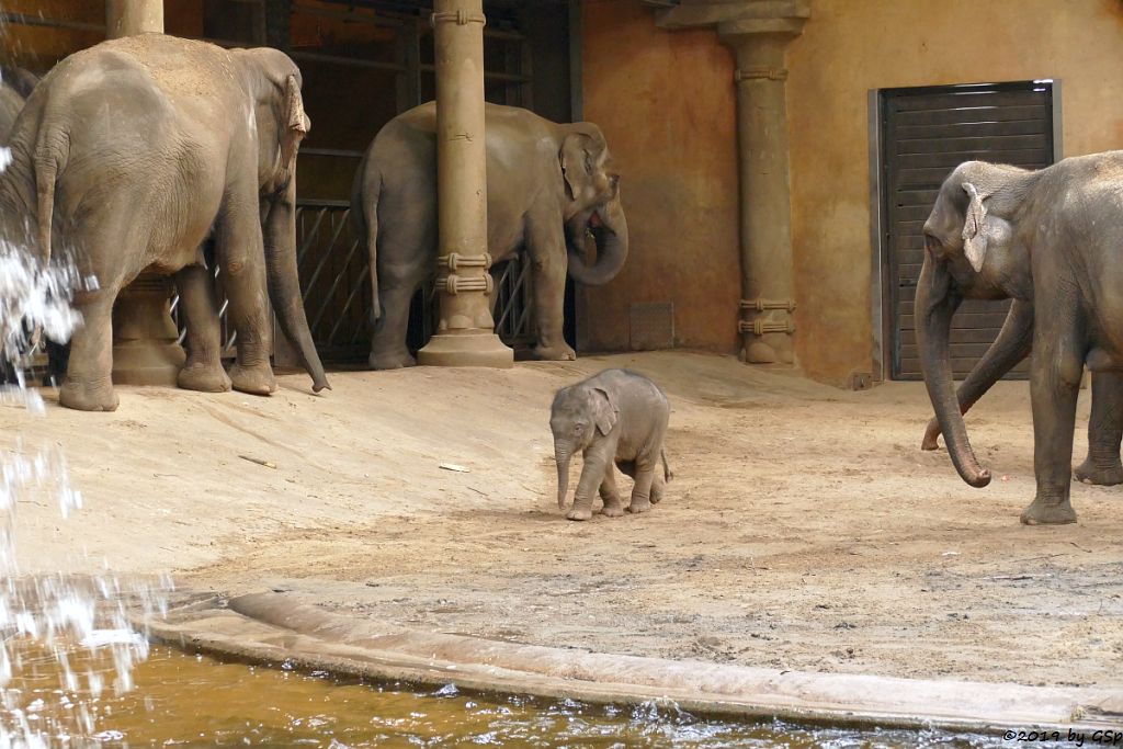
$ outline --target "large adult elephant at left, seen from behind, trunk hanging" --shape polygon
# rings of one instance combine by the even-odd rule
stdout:
[[[9,238],[29,218],[33,230],[19,239],[42,261],[66,248],[97,278],[74,298],[84,325],[71,340],[63,405],[117,408],[110,312],[145,270],[175,273],[188,327],[181,387],[276,389],[266,299],[313,390],[327,386],[296,277],[295,163],[311,126],[300,85],[300,71],[275,49],[145,34],[71,55],[36,86],[12,133],[0,217],[16,217]],[[203,267],[208,238],[238,332],[229,377]]]

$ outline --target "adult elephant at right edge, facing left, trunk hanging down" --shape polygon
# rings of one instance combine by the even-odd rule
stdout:
[[[1120,398],[1121,195],[1123,152],[1067,158],[1037,172],[967,162],[943,182],[924,223],[916,289],[921,366],[948,453],[973,486],[986,486],[990,472],[971,450],[952,389],[952,313],[965,298],[1013,298],[1017,311],[1007,320],[1008,335],[1033,349],[1037,495],[1022,512],[1028,524],[1076,520],[1069,491],[1084,367],[1104,403]]]

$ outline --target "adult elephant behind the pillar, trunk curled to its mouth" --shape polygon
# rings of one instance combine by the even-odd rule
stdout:
[[[499,263],[524,246],[532,267],[541,359],[573,359],[562,336],[566,272],[611,281],[628,257],[620,177],[601,129],[558,125],[514,107],[487,104],[487,253]],[[437,257],[437,108],[422,104],[378,133],[359,166],[351,217],[371,257],[375,369],[413,365],[405,347],[410,300]],[[586,266],[586,231],[596,263]],[[494,300],[493,300],[494,301]]]

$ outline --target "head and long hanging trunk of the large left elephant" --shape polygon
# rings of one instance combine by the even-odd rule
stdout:
[[[270,302],[285,337],[312,376],[312,390],[330,390],[308,327],[296,273],[296,154],[312,127],[300,95],[300,70],[276,49],[262,47],[235,54],[244,65],[253,100],[246,120],[257,143]]]

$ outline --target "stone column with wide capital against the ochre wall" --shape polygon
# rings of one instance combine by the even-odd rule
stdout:
[[[737,63],[738,329],[741,356],[754,364],[795,360],[785,49],[810,16],[810,0],[683,0],[658,15],[663,28],[714,28]]]

